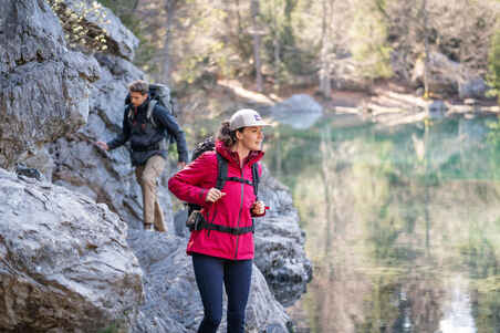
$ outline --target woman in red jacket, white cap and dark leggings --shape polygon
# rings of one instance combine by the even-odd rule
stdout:
[[[269,124],[256,111],[236,112],[222,123],[216,150],[204,153],[168,180],[176,197],[202,207],[201,222],[192,230],[186,250],[192,257],[205,310],[199,333],[217,332],[222,318],[222,282],[228,295],[228,332],[244,332],[253,259],[252,217],[265,215],[252,186],[252,165],[264,155],[262,126]],[[227,160],[228,178],[218,189],[221,157]],[[258,171],[262,173],[260,165]]]

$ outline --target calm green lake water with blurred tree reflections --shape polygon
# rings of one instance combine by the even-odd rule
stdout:
[[[323,117],[277,129],[314,262],[296,332],[500,332],[500,125],[384,128]]]

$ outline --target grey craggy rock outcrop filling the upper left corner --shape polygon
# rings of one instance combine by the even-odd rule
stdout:
[[[45,1],[4,1],[0,12],[0,166],[81,127],[97,62],[65,46]]]

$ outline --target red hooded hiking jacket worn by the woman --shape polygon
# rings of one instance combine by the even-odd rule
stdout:
[[[264,155],[260,150],[250,152],[241,169],[238,153],[231,152],[222,142],[216,143],[216,150],[228,160],[228,177],[250,181],[252,164]],[[217,184],[217,171],[216,152],[206,152],[175,174],[168,180],[168,189],[183,201],[201,205],[205,219],[209,222],[231,228],[250,227],[252,225],[250,208],[256,201],[253,186],[227,180],[222,188],[226,196],[213,204],[205,201],[208,190]],[[261,174],[262,168],[259,165],[259,175]],[[253,233],[231,235],[217,230],[195,230],[191,232],[186,252],[233,260],[253,259]]]

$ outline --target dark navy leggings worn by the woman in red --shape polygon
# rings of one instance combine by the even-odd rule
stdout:
[[[228,333],[243,333],[252,260],[228,260],[194,253],[192,267],[205,310],[198,333],[216,333],[219,327],[222,319],[222,281],[228,295]]]

